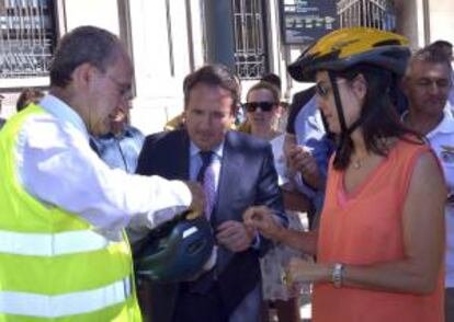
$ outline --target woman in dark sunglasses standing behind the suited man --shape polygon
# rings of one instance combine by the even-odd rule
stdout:
[[[274,165],[276,168],[279,184],[283,186],[288,182],[286,179],[285,157],[283,151],[285,135],[277,129],[282,106],[280,106],[280,90],[266,81],[260,81],[253,85],[243,104],[246,111],[246,126],[240,130],[270,141]],[[285,198],[284,198],[285,203]],[[285,205],[284,205],[285,206]],[[303,226],[296,214],[287,211],[290,227],[303,230]],[[276,244],[266,255],[261,258],[262,289],[265,301],[263,308],[263,321],[269,321],[268,308],[272,303],[276,309],[280,322],[299,322],[299,288],[295,285],[287,286],[281,276],[285,266],[293,256],[299,256],[300,252],[288,246]]]

